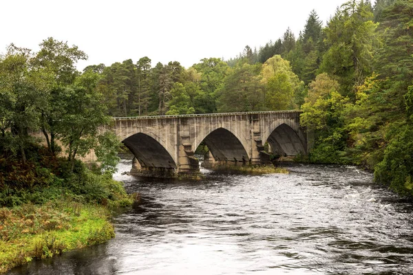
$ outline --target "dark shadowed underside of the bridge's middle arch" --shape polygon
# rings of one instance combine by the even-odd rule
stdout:
[[[218,128],[202,141],[216,162],[248,162],[248,154],[240,140],[224,128]]]

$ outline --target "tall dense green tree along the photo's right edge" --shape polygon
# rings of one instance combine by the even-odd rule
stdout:
[[[383,47],[374,58],[376,73],[357,87],[357,100],[348,108],[352,156],[370,168],[380,164],[378,169],[382,172],[393,170],[388,159],[384,160],[395,148],[387,149],[388,144],[398,144],[400,136],[406,137],[405,127],[410,124],[412,14],[413,4],[406,0],[396,1],[383,10],[383,22],[377,28]],[[384,179],[383,175],[380,177]]]

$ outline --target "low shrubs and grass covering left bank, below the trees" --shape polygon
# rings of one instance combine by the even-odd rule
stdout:
[[[73,170],[54,157],[0,164],[0,274],[112,239],[111,210],[133,201],[112,173],[82,162]]]

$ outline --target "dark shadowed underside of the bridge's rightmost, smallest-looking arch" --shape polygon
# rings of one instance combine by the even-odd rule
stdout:
[[[293,128],[283,123],[277,126],[266,140],[275,155],[299,155],[306,153],[299,135]]]

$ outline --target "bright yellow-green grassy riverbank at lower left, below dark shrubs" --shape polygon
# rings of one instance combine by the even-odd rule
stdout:
[[[112,239],[107,207],[59,199],[0,208],[0,274],[35,259]]]

